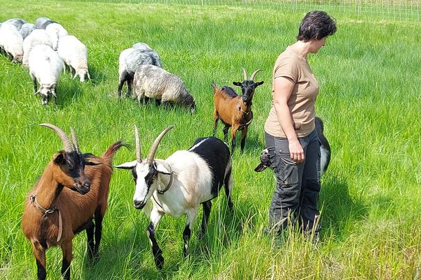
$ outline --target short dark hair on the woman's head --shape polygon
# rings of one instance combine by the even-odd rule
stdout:
[[[334,35],[336,32],[336,20],[329,17],[326,12],[313,10],[307,12],[300,24],[297,40],[309,42],[311,40],[320,40],[323,37]]]

